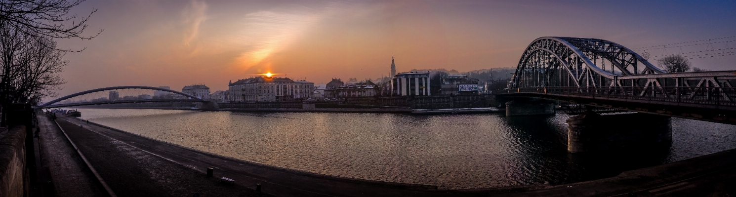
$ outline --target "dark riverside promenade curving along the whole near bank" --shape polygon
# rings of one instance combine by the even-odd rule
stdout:
[[[59,115],[58,125],[87,157],[116,196],[724,196],[736,190],[736,151],[626,171],[619,176],[567,185],[527,185],[437,190],[294,171],[209,154]],[[39,121],[53,123],[46,118]],[[45,127],[46,128],[46,127]],[[61,132],[42,129],[42,132]],[[48,135],[48,134],[47,134]],[[71,150],[74,150],[73,148]],[[68,157],[57,155],[52,157]],[[205,169],[214,168],[214,177]],[[79,176],[89,178],[81,168]],[[51,169],[52,174],[54,170]],[[61,172],[63,174],[63,172]],[[235,185],[218,177],[235,179]],[[52,178],[60,185],[63,178]],[[88,182],[93,182],[93,178]],[[261,192],[255,191],[261,184]],[[69,183],[68,185],[74,185]],[[95,184],[99,185],[99,184]],[[68,188],[57,187],[57,193]],[[99,186],[91,193],[105,194]],[[100,196],[100,195],[93,195]]]

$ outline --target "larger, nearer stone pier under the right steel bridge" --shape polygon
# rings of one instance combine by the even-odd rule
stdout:
[[[571,153],[651,150],[672,145],[671,118],[643,113],[582,114],[567,119]]]

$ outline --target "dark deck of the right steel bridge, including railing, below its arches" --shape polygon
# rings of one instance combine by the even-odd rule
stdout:
[[[736,124],[735,88],[701,92],[690,87],[523,87],[498,93],[500,100],[545,98],[592,107],[645,112],[717,123]]]

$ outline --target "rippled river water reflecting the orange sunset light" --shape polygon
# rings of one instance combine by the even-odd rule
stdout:
[[[568,154],[568,115],[79,109],[82,119],[240,160],[441,189],[563,184],[736,148],[736,126],[673,118],[673,146]]]

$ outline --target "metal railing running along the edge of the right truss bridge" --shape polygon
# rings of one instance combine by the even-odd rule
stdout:
[[[736,107],[735,87],[521,87],[504,91]]]

